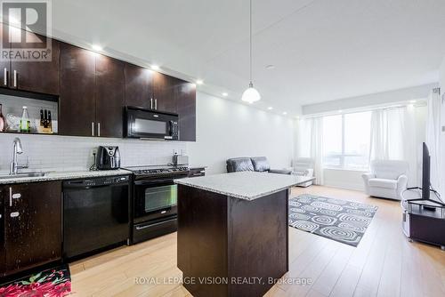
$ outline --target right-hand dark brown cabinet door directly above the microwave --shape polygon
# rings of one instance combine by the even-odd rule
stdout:
[[[177,113],[177,103],[175,92],[182,80],[166,76],[162,73],[155,73],[154,99],[155,107],[159,111]]]

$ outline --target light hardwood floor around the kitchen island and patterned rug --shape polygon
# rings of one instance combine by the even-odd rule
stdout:
[[[379,208],[358,247],[289,228],[290,270],[285,277],[312,283],[277,284],[266,296],[445,296],[445,252],[408,242],[401,232],[398,202],[327,187],[293,192]],[[190,296],[174,279],[182,276],[176,268],[175,233],[74,262],[70,269],[75,296]]]

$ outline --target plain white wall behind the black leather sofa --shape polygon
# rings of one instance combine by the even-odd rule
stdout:
[[[294,121],[198,92],[197,141],[187,143],[192,165],[225,173],[231,157],[268,157],[272,168],[288,167],[294,152]]]

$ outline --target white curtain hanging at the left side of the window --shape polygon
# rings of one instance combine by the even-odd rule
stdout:
[[[323,179],[323,118],[302,118],[298,121],[296,157],[311,157],[314,160],[315,184]]]

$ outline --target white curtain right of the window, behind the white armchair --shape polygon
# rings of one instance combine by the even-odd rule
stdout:
[[[405,160],[409,163],[409,186],[419,183],[419,148],[413,106],[373,110],[369,161]]]

